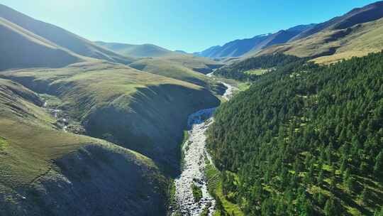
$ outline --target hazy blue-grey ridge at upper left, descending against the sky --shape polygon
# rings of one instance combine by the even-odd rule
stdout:
[[[54,26],[50,23],[35,20],[34,18],[26,16],[23,13],[15,11],[9,8],[8,6],[4,6],[2,4],[0,4],[0,18],[2,18],[3,21],[6,20],[9,23],[13,23],[13,26],[16,25],[17,28],[21,29],[20,31],[24,33],[28,31],[28,35],[30,35],[30,33],[33,33],[35,36],[44,38],[45,41],[50,41],[51,45],[54,44],[55,47],[66,49],[67,51],[76,53],[77,55],[101,60],[109,60],[111,62],[124,64],[128,64],[133,61],[133,58],[128,58],[123,55],[113,53],[111,50],[101,48],[99,45],[96,45],[91,41],[88,41],[87,39],[77,36],[74,33],[66,31],[63,28]],[[35,36],[33,36],[33,38],[35,38]],[[20,37],[21,36],[18,36],[16,38]],[[13,40],[13,37],[8,38],[8,40],[6,41],[9,40]],[[6,41],[1,42],[6,43]],[[11,43],[16,43],[16,41],[11,41]],[[49,55],[50,53],[47,53],[45,56]],[[72,60],[71,62],[74,63],[74,60]],[[57,67],[60,65],[62,64],[57,64]],[[50,66],[50,64],[48,64],[47,66]]]

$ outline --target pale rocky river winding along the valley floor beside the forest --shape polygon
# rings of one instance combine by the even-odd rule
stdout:
[[[222,82],[227,87],[224,99],[230,99],[235,87]],[[185,141],[182,151],[184,153],[184,165],[181,175],[174,180],[176,193],[175,199],[179,207],[179,212],[185,216],[199,216],[201,212],[209,208],[209,215],[213,215],[216,200],[211,197],[207,190],[204,169],[205,160],[211,160],[206,151],[205,132],[213,123],[213,112],[216,108],[201,109],[199,112],[191,114],[188,119],[189,138]],[[196,185],[202,191],[202,198],[198,202],[194,200],[191,190],[192,185]]]

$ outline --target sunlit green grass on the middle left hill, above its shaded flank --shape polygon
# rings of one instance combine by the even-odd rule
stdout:
[[[77,63],[60,69],[14,70],[4,72],[3,75],[31,88],[38,83],[36,90],[48,91],[42,93],[51,93],[60,87],[58,97],[80,119],[89,114],[91,108],[106,104],[113,103],[114,107],[126,109],[133,94],[150,86],[179,85],[201,90],[201,87],[188,82],[102,62]],[[30,82],[30,79],[35,83]]]

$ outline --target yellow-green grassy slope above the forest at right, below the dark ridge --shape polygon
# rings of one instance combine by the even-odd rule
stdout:
[[[317,63],[334,63],[353,56],[363,56],[383,49],[383,18],[343,30],[328,30],[308,38],[263,50],[313,58]]]

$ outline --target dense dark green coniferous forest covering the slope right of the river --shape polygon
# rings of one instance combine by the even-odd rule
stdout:
[[[383,215],[383,52],[279,65],[218,108],[208,147],[245,215]]]

